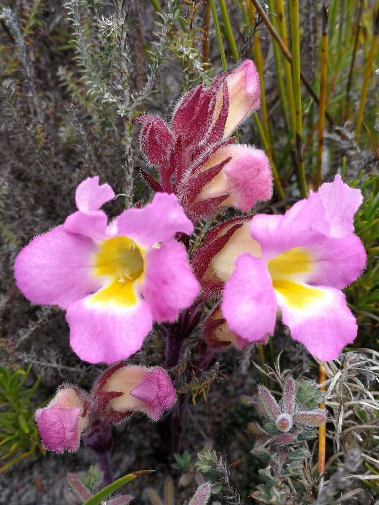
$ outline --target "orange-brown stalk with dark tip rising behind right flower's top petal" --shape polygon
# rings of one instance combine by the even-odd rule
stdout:
[[[326,75],[327,75],[327,11],[325,4],[322,5],[322,36],[321,36],[321,68],[320,68],[320,107],[318,120],[318,151],[316,188],[322,180],[322,147],[324,140],[324,124],[326,109]]]

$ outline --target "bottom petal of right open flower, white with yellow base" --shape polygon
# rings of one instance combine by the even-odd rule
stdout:
[[[291,281],[274,281],[282,320],[291,336],[316,358],[336,359],[357,336],[357,323],[341,291]]]

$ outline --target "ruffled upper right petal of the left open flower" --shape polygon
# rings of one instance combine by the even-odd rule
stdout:
[[[145,207],[124,211],[117,219],[117,226],[120,235],[127,235],[143,246],[167,242],[177,232],[190,235],[194,231],[176,196],[167,193],[157,193]]]

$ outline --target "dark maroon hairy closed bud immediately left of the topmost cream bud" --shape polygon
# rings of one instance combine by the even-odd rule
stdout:
[[[199,86],[180,100],[172,118],[172,130],[181,135],[185,145],[205,137],[213,117],[215,95],[213,89]]]

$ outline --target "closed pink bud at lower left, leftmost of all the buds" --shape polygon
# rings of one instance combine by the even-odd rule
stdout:
[[[77,451],[80,436],[88,426],[89,402],[75,386],[61,386],[49,405],[35,411],[35,422],[43,446],[48,450]]]

